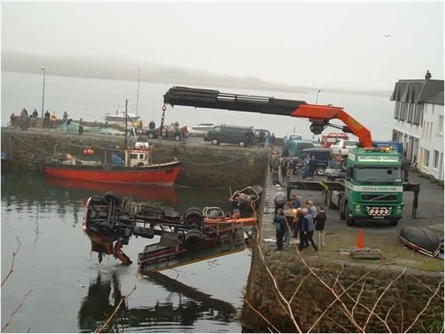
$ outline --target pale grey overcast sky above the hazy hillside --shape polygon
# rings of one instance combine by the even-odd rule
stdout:
[[[1,49],[391,90],[427,68],[444,79],[444,4],[1,1]]]

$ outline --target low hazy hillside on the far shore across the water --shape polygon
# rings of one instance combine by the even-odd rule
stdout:
[[[136,68],[140,68],[140,80],[163,84],[184,86],[208,86],[215,88],[245,88],[252,90],[277,90],[289,93],[314,92],[318,88],[291,86],[262,81],[256,77],[234,77],[218,75],[201,70],[191,70],[149,62],[125,61],[122,59],[101,59],[79,56],[42,56],[1,52],[1,70],[9,72],[47,73],[65,77],[84,77],[94,79],[114,79],[136,81]],[[324,92],[360,95],[379,95],[389,97],[389,90],[348,90],[341,88],[321,88]]]

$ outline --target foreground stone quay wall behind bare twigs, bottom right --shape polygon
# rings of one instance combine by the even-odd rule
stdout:
[[[275,329],[281,332],[296,333],[297,329],[286,313],[283,303],[277,294],[273,280],[266,271],[270,269],[278,289],[289,301],[301,284],[291,301],[291,310],[300,330],[305,333],[309,329],[313,333],[357,333],[357,327],[346,317],[339,301],[335,302],[325,313],[321,321],[311,328],[335,298],[334,295],[316,278],[312,271],[329,287],[334,287],[345,307],[353,312],[357,324],[363,328],[370,311],[375,310],[365,330],[371,333],[403,333],[414,319],[429,303],[428,308],[410,329],[413,332],[440,331],[444,316],[444,273],[418,271],[391,265],[375,266],[326,259],[318,256],[302,255],[295,252],[274,252],[267,246],[261,246],[264,261],[256,246],[252,254],[252,264],[248,278],[247,292],[243,304],[241,321],[257,332],[268,332]],[[307,262],[307,266],[302,262]],[[391,284],[391,281],[394,283]],[[352,285],[352,287],[350,287]],[[350,289],[348,289],[350,287]],[[343,294],[347,289],[348,294]],[[385,292],[385,289],[387,291]],[[438,290],[437,290],[438,289]],[[437,291],[437,295],[435,292]],[[357,296],[359,301],[356,306]],[[380,299],[380,300],[379,300]],[[255,310],[252,309],[252,305]],[[268,319],[268,324],[262,317]],[[387,314],[389,316],[387,317]],[[380,317],[380,319],[378,318]],[[385,326],[382,320],[386,319]],[[435,328],[438,326],[438,328]]]

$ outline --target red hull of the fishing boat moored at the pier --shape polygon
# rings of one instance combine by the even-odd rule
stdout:
[[[51,177],[94,182],[119,182],[137,184],[174,184],[181,161],[156,164],[147,167],[122,166],[44,166],[44,172]]]

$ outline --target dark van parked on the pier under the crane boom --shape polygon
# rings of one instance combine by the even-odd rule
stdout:
[[[248,133],[250,127],[241,127],[238,125],[218,125],[212,127],[206,136],[204,136],[204,141],[211,141],[213,145],[218,145],[220,143],[236,144],[241,147],[248,145],[248,139],[245,134]],[[254,138],[252,138],[254,141]]]

